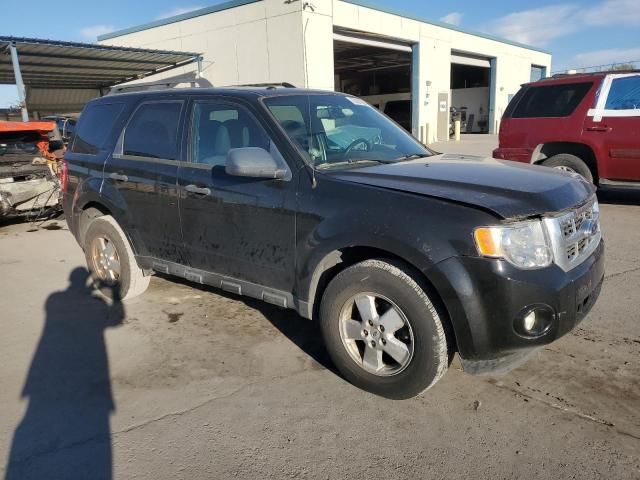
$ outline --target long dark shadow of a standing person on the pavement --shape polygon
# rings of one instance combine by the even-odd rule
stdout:
[[[46,320],[22,398],[6,480],[110,479],[110,416],[115,402],[105,331],[125,317],[119,298],[107,301],[76,268],[66,290],[46,301]],[[116,289],[113,289],[114,292]]]

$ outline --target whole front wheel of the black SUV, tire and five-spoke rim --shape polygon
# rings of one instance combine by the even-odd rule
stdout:
[[[355,386],[392,398],[414,397],[447,371],[448,346],[431,299],[389,260],[366,260],[339,273],[320,305],[325,345]]]

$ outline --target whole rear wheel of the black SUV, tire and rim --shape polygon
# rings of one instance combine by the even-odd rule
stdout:
[[[151,277],[138,266],[127,236],[112,216],[91,220],[84,251],[94,286],[106,297],[126,300],[149,286]]]

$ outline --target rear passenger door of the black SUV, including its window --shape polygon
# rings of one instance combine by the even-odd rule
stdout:
[[[125,229],[141,256],[184,261],[177,200],[186,98],[143,99],[104,169]]]

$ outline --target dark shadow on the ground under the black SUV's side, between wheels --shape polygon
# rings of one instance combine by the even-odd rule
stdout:
[[[202,291],[215,293],[221,297],[242,302],[248,307],[258,310],[262,315],[264,315],[269,323],[277,328],[280,333],[287,337],[300,350],[309,355],[322,367],[339,376],[339,373],[331,362],[329,354],[321,340],[322,336],[320,334],[319,322],[302,318],[294,310],[280,308],[253,298],[235,295],[215,287],[191,283],[188,280],[177,277],[165,276],[162,274],[156,275],[169,282],[179,283],[190,288],[197,288]]]

